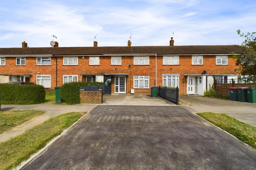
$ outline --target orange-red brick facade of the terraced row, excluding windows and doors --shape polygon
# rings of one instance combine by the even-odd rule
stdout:
[[[90,66],[89,57],[78,57],[77,66],[63,65],[63,57],[58,57],[57,86],[62,85],[63,75],[78,75],[78,81],[85,81],[83,74],[104,75],[104,74],[128,74],[126,79],[126,91],[130,93],[133,89],[133,76],[150,76],[149,86],[155,85],[155,56],[150,56],[149,65],[133,65],[133,57],[122,56],[122,65],[111,65],[111,57],[100,57],[99,66]],[[56,58],[51,58],[51,66],[37,66],[36,57],[26,57],[26,66],[16,66],[15,57],[6,57],[6,66],[0,66],[0,74],[31,74],[31,81],[37,82],[36,75],[51,75],[51,88],[56,86]],[[131,65],[129,66],[129,63]],[[170,69],[172,68],[172,69]],[[237,74],[234,70],[235,60],[232,55],[228,56],[228,65],[216,65],[216,56],[204,56],[203,65],[192,65],[191,55],[180,56],[179,65],[163,65],[163,57],[157,56],[157,83],[162,85],[162,74],[180,74],[179,88],[180,94],[187,91],[187,77],[184,74],[201,74],[204,70],[207,74]],[[114,93],[115,79],[112,76],[112,93]],[[150,89],[135,89],[136,93],[150,93]]]

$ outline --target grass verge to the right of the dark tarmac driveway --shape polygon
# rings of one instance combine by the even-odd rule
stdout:
[[[225,114],[211,112],[196,114],[256,149],[256,127]]]

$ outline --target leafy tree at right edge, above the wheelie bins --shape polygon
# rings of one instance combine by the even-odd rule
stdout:
[[[244,38],[244,42],[241,44],[243,54],[234,55],[237,59],[236,64],[240,66],[239,71],[243,76],[249,76],[249,81],[256,81],[256,32],[247,32],[247,34],[241,33],[241,30],[237,30],[237,34]]]

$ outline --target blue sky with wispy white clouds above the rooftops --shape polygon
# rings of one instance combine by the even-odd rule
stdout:
[[[0,0],[0,47],[241,44],[255,0]],[[174,33],[174,34],[173,34]],[[96,39],[94,37],[97,35]]]

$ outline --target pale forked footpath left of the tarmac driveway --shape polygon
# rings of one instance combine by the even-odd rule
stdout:
[[[18,136],[24,133],[44,121],[50,119],[51,117],[56,117],[58,115],[73,112],[73,111],[91,111],[98,105],[95,104],[77,104],[77,105],[57,105],[57,104],[33,104],[33,105],[2,105],[2,111],[4,110],[40,110],[46,111],[42,115],[38,115],[33,119],[24,122],[23,124],[13,127],[12,129],[0,134],[0,142],[5,142],[12,137]]]

